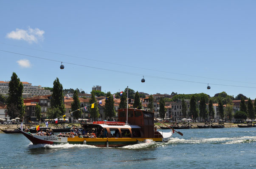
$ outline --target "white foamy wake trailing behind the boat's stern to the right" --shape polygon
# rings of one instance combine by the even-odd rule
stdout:
[[[221,137],[208,139],[179,139],[172,138],[166,144],[242,144],[256,142],[256,136],[242,136],[242,137]]]

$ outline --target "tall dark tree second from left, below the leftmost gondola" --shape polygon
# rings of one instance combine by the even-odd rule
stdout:
[[[55,107],[59,109],[61,114],[65,114],[65,106],[63,103],[63,87],[62,84],[59,82],[59,79],[56,78],[53,82],[53,94],[51,95],[51,108]]]

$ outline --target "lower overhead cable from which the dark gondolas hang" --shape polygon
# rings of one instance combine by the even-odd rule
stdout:
[[[17,53],[17,52],[10,52],[10,51],[1,50],[1,49],[0,49],[0,51],[7,52],[7,53],[12,53],[12,54],[16,54],[16,55],[23,55],[23,56],[28,56],[28,57],[34,57],[34,58],[38,58],[38,59],[42,59],[42,60],[49,60],[49,61],[53,61],[53,62],[59,62],[59,63],[62,62],[62,61],[59,61],[59,60],[47,59],[47,58],[37,57],[37,56],[32,56],[32,55],[25,55],[25,54],[21,54],[21,53]],[[134,76],[146,76],[146,77],[155,78],[155,79],[166,79],[166,80],[174,80],[174,81],[181,81],[181,82],[191,82],[191,83],[220,85],[220,86],[231,86],[231,87],[256,88],[256,87],[249,87],[249,86],[223,85],[223,84],[196,82],[196,81],[189,81],[189,80],[182,80],[182,79],[172,79],[172,78],[166,78],[166,77],[160,77],[160,76],[137,74],[137,73],[131,73],[131,72],[125,72],[125,71],[116,71],[116,70],[113,70],[113,69],[98,68],[98,67],[93,67],[93,66],[88,66],[88,65],[81,65],[81,64],[76,64],[76,63],[69,63],[69,62],[62,62],[62,63],[66,63],[66,64],[70,64],[70,65],[79,65],[79,66],[83,66],[83,67],[87,67],[87,68],[95,68],[95,69],[105,70],[105,71],[112,71],[112,72],[117,72],[117,73],[121,73],[121,74],[129,74],[129,75],[134,75]]]

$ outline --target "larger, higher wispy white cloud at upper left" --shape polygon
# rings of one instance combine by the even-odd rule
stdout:
[[[16,28],[16,31],[13,30],[10,33],[7,33],[6,37],[11,39],[24,40],[32,44],[37,43],[38,40],[43,40],[44,33],[44,30],[39,30],[38,28],[32,29],[28,27],[28,30]]]

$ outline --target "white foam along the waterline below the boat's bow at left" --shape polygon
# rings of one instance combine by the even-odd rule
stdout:
[[[32,144],[28,145],[29,149],[35,148],[45,148],[45,149],[70,149],[70,148],[98,148],[92,145],[85,145],[85,144]]]

